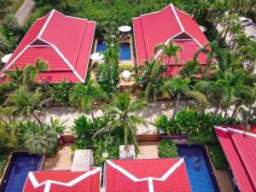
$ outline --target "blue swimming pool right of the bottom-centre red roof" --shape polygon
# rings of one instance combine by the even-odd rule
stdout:
[[[185,160],[193,192],[218,192],[218,184],[204,148],[178,146],[177,153]]]

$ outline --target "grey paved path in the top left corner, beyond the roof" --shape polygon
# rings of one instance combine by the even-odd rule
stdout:
[[[26,20],[28,19],[32,9],[34,7],[34,2],[32,0],[25,0],[24,3],[20,6],[20,9],[15,14],[20,26],[24,26],[26,24]]]

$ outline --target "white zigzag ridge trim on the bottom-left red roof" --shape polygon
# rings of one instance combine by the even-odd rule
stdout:
[[[33,172],[29,172],[28,173],[28,178],[31,180],[32,185],[34,188],[38,188],[40,186],[45,185],[44,187],[44,192],[49,192],[50,189],[50,184],[60,184],[63,186],[67,186],[67,187],[71,187],[76,183],[79,183],[80,181],[84,180],[86,177],[90,177],[92,175],[95,175],[97,172],[100,172],[101,168],[97,167],[94,170],[90,171],[90,172],[85,172],[83,175],[76,177],[75,179],[73,179],[72,181],[68,182],[68,183],[63,183],[63,182],[57,182],[57,181],[53,181],[53,180],[46,180],[43,183],[38,183],[37,178],[34,176]]]

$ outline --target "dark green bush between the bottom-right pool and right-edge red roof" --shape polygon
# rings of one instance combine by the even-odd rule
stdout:
[[[212,162],[216,169],[228,169],[229,164],[220,145],[208,146]]]

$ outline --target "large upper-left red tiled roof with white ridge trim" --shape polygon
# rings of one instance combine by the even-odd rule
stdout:
[[[95,28],[94,21],[62,15],[53,9],[35,21],[1,73],[41,58],[49,64],[49,72],[43,75],[45,81],[84,82]]]

